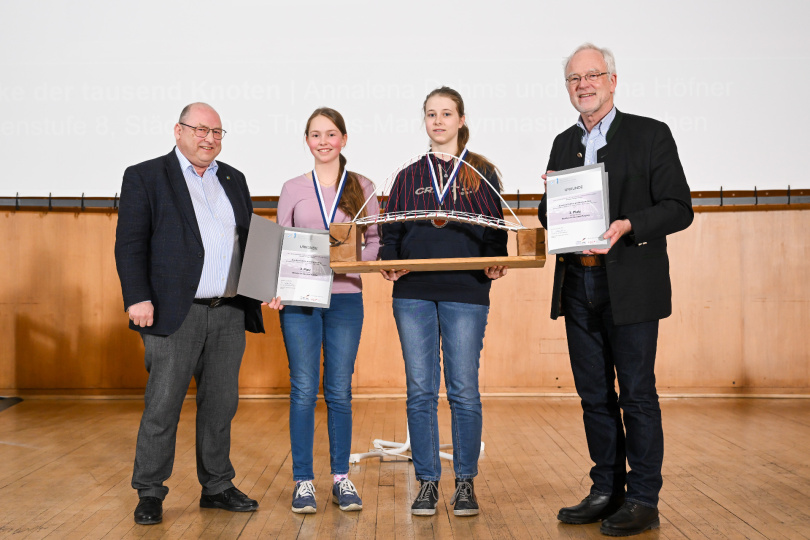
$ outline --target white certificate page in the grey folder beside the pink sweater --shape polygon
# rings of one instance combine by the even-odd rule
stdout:
[[[329,307],[331,293],[329,234],[285,228],[276,290],[281,303]]]

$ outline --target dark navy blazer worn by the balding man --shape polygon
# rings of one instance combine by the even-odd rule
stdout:
[[[219,178],[233,207],[241,253],[245,252],[253,203],[245,175],[217,161]],[[145,334],[170,335],[188,315],[202,276],[202,238],[194,205],[175,151],[124,171],[115,264],[121,279],[124,309],[151,300],[152,326],[129,327]],[[261,303],[239,297],[245,329],[264,332]]]

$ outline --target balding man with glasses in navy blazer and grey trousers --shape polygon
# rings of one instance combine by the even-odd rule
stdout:
[[[132,475],[142,525],[163,518],[163,483],[192,377],[200,506],[259,506],[233,485],[229,457],[245,330],[264,327],[259,302],[236,296],[253,205],[245,176],[215,161],[224,136],[217,112],[192,103],[174,126],[177,146],[124,172],[115,261],[149,372]]]

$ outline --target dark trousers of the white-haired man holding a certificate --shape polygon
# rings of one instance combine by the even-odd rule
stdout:
[[[627,500],[655,507],[664,460],[655,390],[658,321],[613,324],[607,273],[600,267],[569,264],[562,302],[571,368],[594,462],[591,492],[618,494],[626,484]]]

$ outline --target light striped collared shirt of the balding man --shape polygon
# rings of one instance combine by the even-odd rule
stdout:
[[[186,179],[194,214],[205,249],[203,272],[195,298],[236,296],[241,270],[239,235],[228,195],[217,178],[219,165],[212,161],[202,176],[175,147],[180,169]]]

